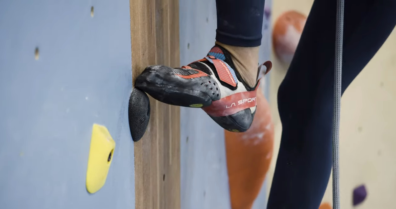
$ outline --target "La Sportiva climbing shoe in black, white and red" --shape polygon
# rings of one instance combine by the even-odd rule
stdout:
[[[271,63],[264,65],[267,73]],[[169,105],[202,108],[224,129],[244,132],[253,122],[260,81],[249,87],[234,69],[228,51],[215,45],[204,59],[181,68],[148,66],[135,88]]]

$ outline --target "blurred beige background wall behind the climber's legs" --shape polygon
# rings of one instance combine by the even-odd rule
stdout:
[[[313,0],[274,0],[272,21],[294,9],[308,15]],[[274,160],[268,173],[269,187],[278,155],[282,124],[276,92],[287,66],[274,55],[270,74],[270,103],[275,124]],[[341,208],[351,209],[352,190],[366,184],[367,199],[358,209],[396,208],[396,32],[348,87],[341,100],[340,184]],[[331,177],[330,177],[331,179]],[[323,201],[331,202],[331,180]]]

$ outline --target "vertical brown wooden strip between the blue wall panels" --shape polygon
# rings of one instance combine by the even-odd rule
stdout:
[[[148,65],[179,67],[179,0],[130,0],[133,81]],[[180,209],[180,109],[150,97],[135,142],[135,208]]]

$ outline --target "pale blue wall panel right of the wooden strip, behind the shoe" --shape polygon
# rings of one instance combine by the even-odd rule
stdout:
[[[206,56],[215,43],[216,5],[214,0],[180,0],[180,63]],[[265,2],[260,62],[270,57],[270,6]],[[267,95],[266,77],[261,87]],[[181,108],[181,208],[230,209],[224,130],[201,109]],[[265,186],[263,186],[265,188]],[[266,205],[265,189],[253,209]]]

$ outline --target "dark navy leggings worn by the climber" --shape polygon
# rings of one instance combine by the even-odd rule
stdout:
[[[267,209],[318,209],[326,190],[332,165],[336,2],[314,1],[278,90],[283,130]],[[260,45],[264,0],[216,3],[217,41]],[[252,15],[257,9],[259,15]],[[345,0],[342,93],[392,32],[395,11],[395,0]]]

